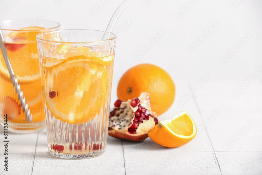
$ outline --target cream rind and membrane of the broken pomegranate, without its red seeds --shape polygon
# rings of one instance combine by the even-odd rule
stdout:
[[[138,98],[140,100],[138,105],[140,104],[143,108],[149,110],[152,117],[149,116],[148,120],[144,120],[143,123],[140,123],[137,126],[136,134],[131,134],[128,132],[128,129],[134,123],[134,112],[137,111],[138,105],[136,107],[132,107],[130,105],[131,99],[124,101],[121,103],[119,108],[114,107],[115,114],[109,119],[110,130],[108,130],[108,135],[132,141],[141,141],[148,137],[148,132],[155,126],[154,118],[157,118],[157,115],[155,112],[151,111],[149,93],[143,92]]]

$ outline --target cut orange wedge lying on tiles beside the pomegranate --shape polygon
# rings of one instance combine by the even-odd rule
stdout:
[[[169,148],[176,148],[187,144],[196,135],[196,126],[186,111],[175,117],[160,121],[148,133],[157,144]]]

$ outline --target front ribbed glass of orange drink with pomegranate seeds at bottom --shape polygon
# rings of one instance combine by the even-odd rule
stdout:
[[[116,35],[59,30],[38,34],[49,152],[86,158],[106,149]]]

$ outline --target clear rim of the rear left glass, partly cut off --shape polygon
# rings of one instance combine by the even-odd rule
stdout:
[[[37,21],[39,19],[5,19],[5,20],[0,20],[0,23],[4,23],[4,22],[12,22],[12,21]],[[56,26],[54,27],[51,27],[51,28],[45,28],[45,29],[37,29],[37,30],[19,30],[19,29],[5,29],[5,28],[0,28],[0,30],[5,30],[5,31],[23,31],[23,32],[31,32],[31,31],[45,31],[45,30],[52,30],[52,29],[55,29],[55,28],[58,28],[60,27],[60,24],[56,21],[52,21],[52,20],[45,20],[45,19],[41,19],[43,22],[52,22],[52,23],[56,23]],[[33,25],[32,25],[33,26]],[[29,26],[29,27],[32,27],[32,26]],[[37,27],[37,26],[35,26]]]

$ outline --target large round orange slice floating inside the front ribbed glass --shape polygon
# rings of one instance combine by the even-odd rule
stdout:
[[[82,124],[100,114],[108,87],[108,68],[100,63],[98,57],[82,55],[43,65],[44,96],[56,119]]]

